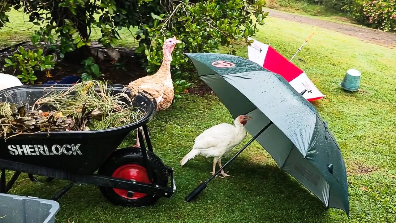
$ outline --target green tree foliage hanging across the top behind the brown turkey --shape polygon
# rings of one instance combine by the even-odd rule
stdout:
[[[0,0],[1,1],[1,0]],[[0,28],[9,22],[11,8],[29,14],[39,26],[32,38],[47,43],[59,42],[61,58],[72,55],[78,62],[89,57],[91,31],[99,29],[98,42],[115,46],[119,31],[131,32],[139,42],[148,72],[162,61],[162,42],[177,36],[183,44],[175,49],[173,68],[176,79],[186,78],[190,63],[183,52],[213,52],[257,32],[263,24],[263,0],[7,0],[0,8]]]

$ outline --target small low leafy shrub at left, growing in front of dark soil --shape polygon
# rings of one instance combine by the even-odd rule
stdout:
[[[4,67],[12,66],[17,72],[17,78],[22,82],[33,84],[37,80],[34,71],[44,71],[55,65],[55,62],[52,61],[54,56],[44,56],[42,48],[26,51],[25,48],[19,46],[18,51],[19,53],[16,52],[13,56],[5,59]]]

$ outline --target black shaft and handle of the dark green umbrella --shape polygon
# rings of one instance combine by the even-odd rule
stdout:
[[[230,164],[232,162],[232,160],[234,160],[239,154],[241,154],[241,152],[244,151],[247,148],[247,146],[249,146],[257,137],[259,137],[272,124],[273,124],[273,122],[270,121],[263,129],[261,129],[259,131],[259,133],[257,133],[255,136],[253,136],[253,138],[251,138],[251,140],[249,142],[247,142],[247,144],[244,147],[242,147],[242,149],[240,149],[230,160],[228,160],[227,163],[225,163],[215,174],[213,174],[209,179],[207,179],[206,181],[201,183],[190,194],[188,194],[188,196],[185,198],[185,200],[187,202],[194,200],[194,198],[196,198],[196,196],[198,196],[198,194],[200,194],[206,188],[206,185],[211,180],[213,180],[213,178],[215,178],[216,175],[218,175],[228,164]]]

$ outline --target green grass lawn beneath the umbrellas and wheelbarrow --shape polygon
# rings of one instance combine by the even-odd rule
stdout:
[[[276,18],[266,21],[255,38],[271,44],[287,58],[313,28]],[[10,39],[0,32],[3,42]],[[124,37],[124,45],[133,43],[128,32]],[[247,56],[242,46],[237,52]],[[349,218],[342,211],[326,210],[315,196],[280,171],[257,143],[230,165],[229,174],[234,177],[215,179],[198,200],[186,203],[184,197],[209,177],[212,159],[198,157],[183,168],[179,160],[202,131],[217,123],[232,123],[215,96],[188,95],[176,99],[168,111],[158,113],[149,123],[156,154],[175,169],[177,192],[171,199],[160,199],[152,207],[120,208],[107,202],[95,186],[74,186],[59,200],[57,222],[395,222],[396,50],[318,28],[297,58],[294,62],[326,94],[327,99],[314,105],[328,121],[343,152],[348,169]],[[354,94],[339,88],[350,68],[362,72],[361,90]],[[132,144],[134,137],[131,134],[123,145]],[[11,193],[51,198],[65,185],[67,182],[59,180],[39,184],[21,178]],[[360,189],[362,186],[368,191]]]

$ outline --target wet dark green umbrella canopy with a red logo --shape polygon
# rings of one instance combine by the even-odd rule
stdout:
[[[284,171],[315,194],[327,208],[349,214],[348,183],[339,145],[314,106],[280,75],[238,56],[187,53],[198,76],[246,125]]]

